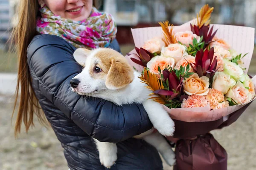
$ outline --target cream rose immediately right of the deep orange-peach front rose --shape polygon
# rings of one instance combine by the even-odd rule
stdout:
[[[215,72],[213,76],[212,88],[222,92],[224,95],[235,84],[236,81],[224,72]]]

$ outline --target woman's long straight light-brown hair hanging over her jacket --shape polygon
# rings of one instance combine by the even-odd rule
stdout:
[[[93,0],[93,6],[98,7],[101,0]],[[36,32],[36,17],[38,15],[38,0],[20,0],[18,8],[18,23],[12,32],[12,42],[15,43],[18,55],[18,76],[15,92],[15,106],[12,117],[17,107],[18,98],[19,106],[17,119],[15,123],[15,137],[20,133],[22,121],[25,125],[26,132],[29,127],[34,126],[34,113],[37,115],[41,124],[47,126],[49,124],[41,110],[38,99],[32,88],[32,78],[29,73],[27,64],[27,48],[32,38],[38,33]],[[20,93],[19,93],[20,92]]]

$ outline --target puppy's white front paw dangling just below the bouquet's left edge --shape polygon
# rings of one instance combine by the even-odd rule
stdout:
[[[156,128],[157,131],[164,136],[173,136],[175,131],[175,124],[174,121],[170,118],[164,122],[157,122],[157,124],[154,124],[154,128]]]

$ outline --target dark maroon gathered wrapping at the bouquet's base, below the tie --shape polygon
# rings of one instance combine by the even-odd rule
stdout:
[[[209,133],[176,144],[173,170],[227,170],[227,152]]]

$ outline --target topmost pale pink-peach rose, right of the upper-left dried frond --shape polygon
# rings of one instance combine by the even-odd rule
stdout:
[[[193,34],[192,31],[185,31],[185,32],[177,32],[175,35],[175,38],[177,41],[180,41],[185,46],[189,46],[189,44],[193,45],[193,39],[196,38],[196,40],[199,42],[200,37],[196,34]]]

